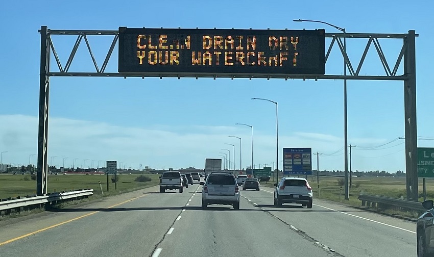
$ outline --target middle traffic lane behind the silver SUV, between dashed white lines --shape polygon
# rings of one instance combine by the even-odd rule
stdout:
[[[240,210],[212,204],[197,193],[155,254],[166,256],[339,256],[240,198]],[[154,255],[155,256],[155,255]]]

